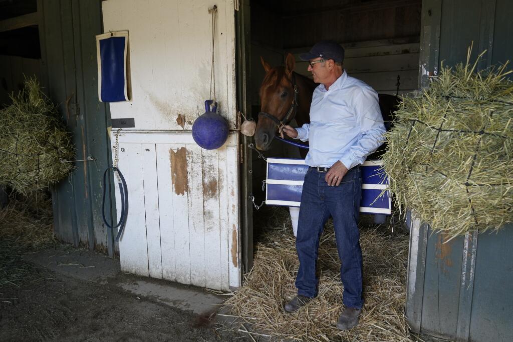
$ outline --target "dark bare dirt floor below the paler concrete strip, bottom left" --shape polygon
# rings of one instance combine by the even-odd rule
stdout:
[[[0,341],[251,340],[214,325],[208,313],[176,309],[116,285],[146,278],[117,274],[108,281],[85,280],[37,266],[18,253],[3,254],[0,263],[23,280],[0,287]]]

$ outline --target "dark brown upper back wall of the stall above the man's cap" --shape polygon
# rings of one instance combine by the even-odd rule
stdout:
[[[284,48],[322,39],[364,42],[420,34],[421,0],[283,2]]]

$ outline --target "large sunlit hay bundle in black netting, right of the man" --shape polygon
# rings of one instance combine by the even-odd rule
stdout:
[[[477,71],[484,52],[470,64],[470,51],[465,65],[442,65],[426,89],[404,97],[385,134],[397,203],[448,237],[513,221],[511,71]]]

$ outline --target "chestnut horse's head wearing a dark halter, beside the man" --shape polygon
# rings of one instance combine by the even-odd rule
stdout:
[[[271,67],[262,57],[260,61],[265,69],[265,77],[260,87],[261,112],[254,137],[257,148],[267,151],[280,126],[286,125],[299,109],[299,88],[295,84],[295,61],[292,54],[287,54],[284,67]]]

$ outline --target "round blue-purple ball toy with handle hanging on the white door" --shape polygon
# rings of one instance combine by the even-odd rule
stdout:
[[[228,123],[224,117],[215,112],[218,109],[216,102],[213,103],[212,111],[210,111],[212,103],[213,100],[205,101],[205,113],[192,125],[192,138],[205,150],[218,149],[228,139]]]

